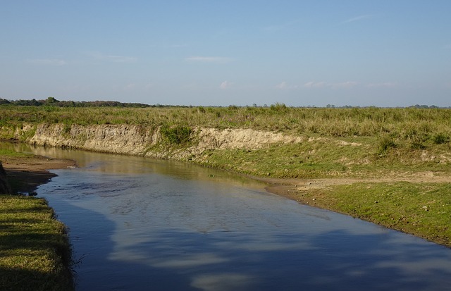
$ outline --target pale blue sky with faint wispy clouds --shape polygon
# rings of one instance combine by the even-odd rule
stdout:
[[[0,98],[451,106],[449,0],[0,0]]]

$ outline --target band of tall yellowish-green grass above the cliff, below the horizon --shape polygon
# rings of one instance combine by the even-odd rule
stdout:
[[[414,147],[421,147],[427,141],[449,141],[450,120],[451,109],[294,108],[284,104],[192,108],[0,106],[0,127],[63,123],[252,128],[295,135],[376,136],[394,141],[409,140]]]

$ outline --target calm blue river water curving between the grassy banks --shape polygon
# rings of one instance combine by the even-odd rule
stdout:
[[[69,158],[38,194],[70,228],[77,290],[450,290],[451,249],[173,161]]]

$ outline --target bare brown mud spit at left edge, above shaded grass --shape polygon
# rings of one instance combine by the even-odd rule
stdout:
[[[49,159],[45,156],[11,157],[1,156],[6,177],[13,192],[31,193],[37,186],[49,182],[56,176],[47,170],[75,167],[75,161],[66,159]]]

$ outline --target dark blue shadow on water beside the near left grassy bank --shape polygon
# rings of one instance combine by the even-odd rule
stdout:
[[[114,223],[95,211],[71,204],[61,210],[58,218],[62,221],[78,221],[70,223],[69,230],[76,290],[199,290],[190,287],[189,278],[171,270],[109,259],[114,247]]]

